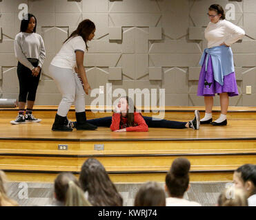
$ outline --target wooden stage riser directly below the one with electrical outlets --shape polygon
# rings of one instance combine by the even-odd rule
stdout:
[[[95,157],[101,162],[106,170],[168,170],[173,160],[177,157]],[[255,164],[256,155],[204,155],[186,156],[195,168],[201,166],[241,166],[242,164]],[[52,170],[52,171],[79,171],[83,162],[88,157],[14,157],[0,156],[0,169],[11,170]]]

